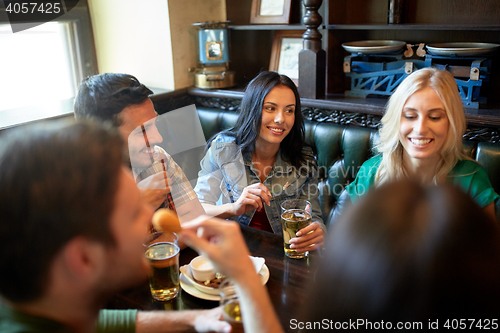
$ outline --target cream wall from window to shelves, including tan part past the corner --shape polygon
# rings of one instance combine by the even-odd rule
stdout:
[[[221,0],[89,0],[99,72],[135,75],[148,87],[192,86],[194,22],[226,20]]]

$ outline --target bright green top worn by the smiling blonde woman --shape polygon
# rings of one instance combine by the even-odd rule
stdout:
[[[353,203],[374,186],[375,175],[381,162],[382,155],[370,158],[363,163],[356,179],[346,186]],[[462,189],[482,208],[499,198],[491,186],[486,171],[480,164],[471,160],[459,160],[446,177],[446,183]]]

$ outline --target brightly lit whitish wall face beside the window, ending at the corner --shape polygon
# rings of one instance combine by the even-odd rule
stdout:
[[[89,0],[99,73],[128,73],[173,89],[167,1]]]

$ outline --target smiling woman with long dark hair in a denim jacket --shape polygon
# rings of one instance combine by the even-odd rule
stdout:
[[[325,226],[318,168],[305,146],[300,110],[299,93],[290,78],[260,73],[245,90],[234,127],[209,140],[195,192],[207,214],[277,234],[283,232],[281,203],[309,200],[316,223],[290,240],[292,248],[305,252],[323,243]]]

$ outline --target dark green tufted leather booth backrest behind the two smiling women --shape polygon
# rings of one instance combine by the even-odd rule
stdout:
[[[205,139],[209,139],[236,122],[236,112],[197,107]],[[376,152],[378,133],[374,129],[333,123],[305,121],[306,142],[316,152],[320,169],[320,204],[323,220],[332,222],[337,199],[344,187],[356,178],[364,161]],[[500,144],[464,141],[466,153],[485,168],[493,188],[500,193]],[[182,167],[182,166],[181,166]],[[500,200],[496,203],[500,221]]]

